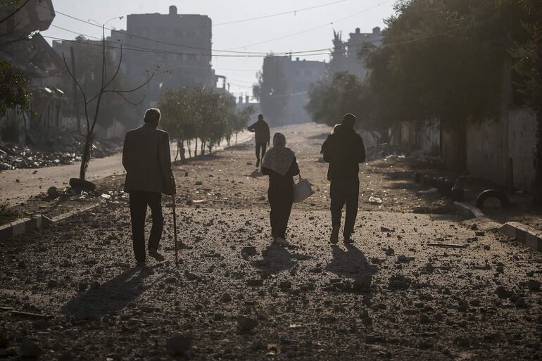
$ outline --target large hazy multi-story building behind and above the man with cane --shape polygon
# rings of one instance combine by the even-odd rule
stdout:
[[[163,90],[187,84],[215,87],[211,68],[212,28],[206,15],[178,14],[170,6],[168,14],[127,15],[126,31],[114,31],[111,42],[122,44],[122,66],[126,75],[146,84],[146,103],[156,105]]]

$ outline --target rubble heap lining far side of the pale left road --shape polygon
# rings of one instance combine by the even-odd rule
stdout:
[[[84,136],[68,132],[29,131],[27,145],[0,141],[0,170],[51,167],[81,160]],[[93,158],[111,156],[120,151],[122,141],[94,141]]]

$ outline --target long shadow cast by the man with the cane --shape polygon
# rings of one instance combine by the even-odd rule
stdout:
[[[144,287],[143,281],[152,273],[150,268],[126,270],[99,288],[73,298],[61,308],[61,313],[78,317],[115,315],[146,291],[148,287]]]

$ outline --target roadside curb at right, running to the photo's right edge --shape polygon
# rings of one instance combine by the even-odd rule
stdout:
[[[500,233],[508,236],[508,238],[515,239],[536,251],[542,251],[542,232],[538,229],[519,222],[500,224],[486,217],[479,208],[465,202],[454,202],[453,207],[465,218],[476,218],[482,222],[491,222],[492,229],[498,229]]]

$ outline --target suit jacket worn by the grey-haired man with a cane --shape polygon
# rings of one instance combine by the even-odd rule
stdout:
[[[122,165],[126,170],[125,192],[172,194],[175,180],[171,171],[168,132],[149,124],[127,132],[122,150]]]

